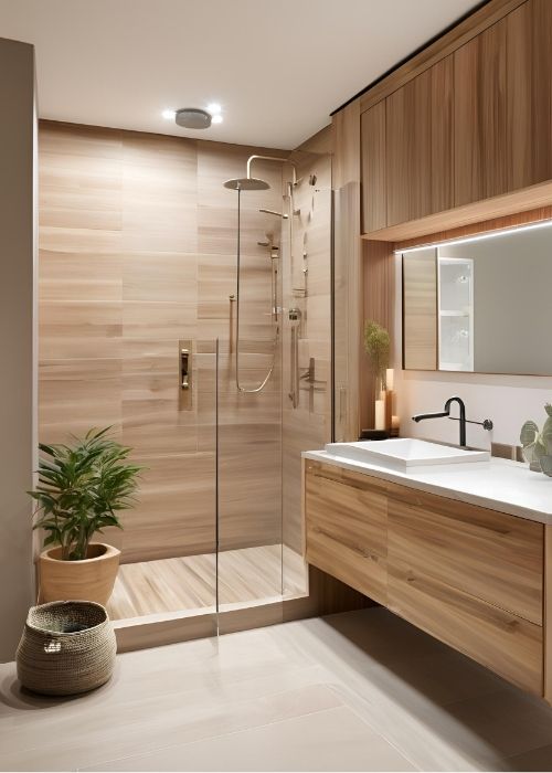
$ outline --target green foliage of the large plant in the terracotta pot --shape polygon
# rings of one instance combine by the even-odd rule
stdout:
[[[108,436],[110,427],[91,430],[72,445],[39,444],[39,485],[34,529],[44,529],[44,547],[60,544],[62,560],[86,558],[94,533],[121,529],[119,510],[134,506],[141,467],[127,462],[131,448]]]

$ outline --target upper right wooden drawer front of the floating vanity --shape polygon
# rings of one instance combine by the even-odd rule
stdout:
[[[542,523],[396,488],[389,561],[542,625]]]

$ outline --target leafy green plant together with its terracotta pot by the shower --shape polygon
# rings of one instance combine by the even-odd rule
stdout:
[[[92,542],[108,526],[121,529],[118,511],[134,505],[141,467],[129,464],[130,448],[109,437],[110,427],[91,430],[71,445],[39,444],[34,529],[46,532],[39,559],[40,601],[106,604],[120,551]]]

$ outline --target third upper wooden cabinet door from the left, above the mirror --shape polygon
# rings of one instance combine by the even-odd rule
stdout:
[[[502,19],[454,53],[456,207],[508,189],[506,34]]]

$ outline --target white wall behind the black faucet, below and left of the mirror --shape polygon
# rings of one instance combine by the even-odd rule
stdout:
[[[399,257],[395,271],[395,412],[401,417],[401,435],[458,443],[458,422],[432,419],[416,424],[411,421],[414,413],[442,411],[445,401],[453,394],[466,403],[468,419],[491,419],[495,423],[490,433],[481,427],[468,425],[468,445],[488,448],[491,441],[519,444],[519,431],[527,419],[533,419],[542,425],[546,417],[544,403],[552,402],[551,377],[401,371],[402,309]],[[453,413],[455,412],[456,407],[453,407]]]

